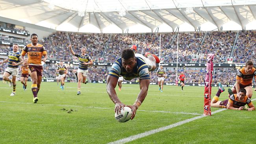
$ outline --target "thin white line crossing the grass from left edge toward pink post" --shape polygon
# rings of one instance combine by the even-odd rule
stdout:
[[[21,103],[21,102],[0,102],[0,103],[16,103],[16,104],[26,104],[26,105],[38,105],[38,104],[34,104],[34,103]],[[48,106],[59,106],[59,107],[80,107],[80,108],[85,108],[85,109],[111,109],[108,107],[83,107],[83,106],[79,106],[79,105],[54,105],[54,104],[44,104],[44,103],[40,103],[39,105],[48,105]],[[114,111],[114,109],[113,109]],[[171,111],[146,111],[146,110],[137,110],[137,111],[143,111],[143,112],[148,112],[148,113],[171,113],[171,114],[190,114],[190,115],[201,115],[198,113],[186,113],[186,112],[171,112]]]

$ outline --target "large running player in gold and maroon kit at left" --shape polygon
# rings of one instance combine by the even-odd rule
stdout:
[[[45,47],[42,44],[38,44],[38,36],[33,33],[31,36],[31,44],[28,44],[24,47],[21,52],[21,59],[24,61],[24,56],[28,55],[28,62],[24,62],[24,65],[28,65],[30,69],[30,77],[32,80],[32,93],[33,93],[33,102],[37,103],[38,98],[37,94],[40,89],[42,76],[43,76],[43,66],[42,62],[45,63],[47,57],[47,52]],[[44,58],[42,59],[42,57]]]

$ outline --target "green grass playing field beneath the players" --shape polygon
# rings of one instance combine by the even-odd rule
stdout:
[[[164,86],[163,92],[159,92],[158,86],[150,85],[134,120],[126,123],[115,120],[115,105],[106,93],[106,84],[82,85],[79,96],[76,90],[76,83],[66,83],[61,90],[56,83],[43,82],[39,102],[34,104],[31,89],[24,91],[18,82],[16,95],[11,97],[12,89],[0,82],[0,143],[105,144],[203,113],[204,87],[184,87],[181,91],[180,87]],[[137,98],[139,85],[127,84],[122,86],[122,91],[116,90],[121,101],[131,105]],[[213,87],[212,96],[216,92],[217,88]],[[254,98],[256,92],[252,100]],[[220,100],[224,99],[227,99],[227,90],[220,96]],[[73,111],[67,113],[63,108]],[[211,109],[217,110],[219,108]],[[256,111],[226,110],[127,143],[255,144],[255,135]]]

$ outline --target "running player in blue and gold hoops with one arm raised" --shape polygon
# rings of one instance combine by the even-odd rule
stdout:
[[[77,70],[77,77],[78,77],[77,95],[79,95],[79,94],[81,94],[81,82],[85,83],[85,84],[87,83],[86,77],[88,76],[88,65],[92,65],[93,60],[91,59],[91,57],[89,55],[86,54],[86,49],[84,47],[81,50],[82,54],[76,54],[73,51],[71,45],[69,45],[69,50],[72,55],[78,57],[78,59],[79,59],[79,67]]]

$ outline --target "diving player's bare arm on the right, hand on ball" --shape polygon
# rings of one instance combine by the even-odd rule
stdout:
[[[135,101],[134,105],[128,105],[132,109],[132,116],[131,120],[134,119],[135,114],[141,103],[145,100],[147,93],[148,93],[148,87],[149,87],[150,79],[140,79],[139,80],[139,87],[141,91],[139,92],[139,95],[137,97],[137,100]]]

